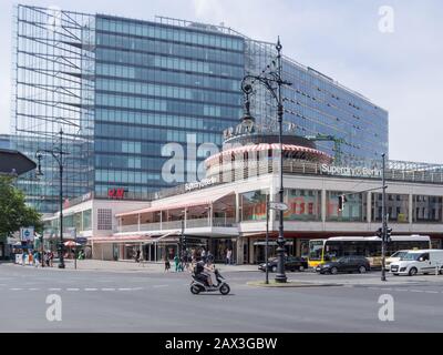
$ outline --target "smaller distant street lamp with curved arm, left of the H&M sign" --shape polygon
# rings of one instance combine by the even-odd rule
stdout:
[[[41,160],[43,158],[43,154],[51,154],[56,163],[59,164],[59,172],[60,172],[60,193],[59,193],[59,204],[60,204],[60,263],[59,263],[59,268],[64,268],[64,257],[63,257],[63,155],[69,154],[68,152],[63,152],[63,131],[60,130],[60,145],[58,149],[53,150],[45,150],[41,149],[35,152],[35,158],[38,160],[38,171],[37,175],[42,176],[43,173],[41,171]]]

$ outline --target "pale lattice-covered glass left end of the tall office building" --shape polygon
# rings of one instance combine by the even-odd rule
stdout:
[[[17,6],[13,26],[13,146],[35,160],[58,146],[63,131],[65,199],[93,189],[95,19],[58,8]],[[56,162],[42,160],[43,178],[18,184],[43,212],[56,210]],[[47,196],[41,201],[40,196]]]

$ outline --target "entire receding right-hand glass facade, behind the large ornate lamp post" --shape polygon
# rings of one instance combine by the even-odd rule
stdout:
[[[245,71],[260,74],[272,70],[275,44],[246,40]],[[381,154],[388,154],[388,111],[373,104],[317,70],[290,58],[282,60],[285,87],[284,130],[289,134],[316,138],[319,149],[332,156],[340,152],[340,165],[380,165]],[[262,131],[277,132],[276,102],[262,87],[256,85],[251,102],[253,115]],[[333,140],[340,141],[338,146]]]

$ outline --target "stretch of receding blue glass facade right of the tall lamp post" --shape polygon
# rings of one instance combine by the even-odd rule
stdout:
[[[284,95],[285,120],[300,135],[341,139],[342,165],[372,165],[388,154],[388,112],[332,79],[287,60],[285,79],[292,83]],[[336,155],[333,142],[317,145]]]

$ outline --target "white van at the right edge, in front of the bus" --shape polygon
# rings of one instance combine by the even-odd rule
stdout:
[[[443,273],[443,250],[409,251],[399,262],[391,264],[394,275],[433,274],[436,268]]]

